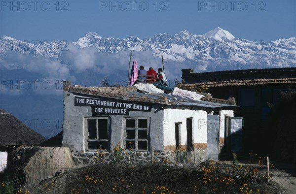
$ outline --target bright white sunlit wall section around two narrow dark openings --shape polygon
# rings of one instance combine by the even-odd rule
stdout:
[[[203,110],[164,109],[164,146],[176,145],[175,123],[181,125],[181,145],[187,144],[186,119],[192,118],[193,143],[207,143],[207,112]]]

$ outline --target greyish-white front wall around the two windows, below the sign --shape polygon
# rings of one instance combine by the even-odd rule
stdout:
[[[75,95],[71,92],[65,92],[64,94],[63,146],[70,147],[70,149],[81,153],[86,151],[88,136],[84,120],[85,117],[110,118],[111,142],[114,144],[117,144],[119,141],[121,141],[121,143],[123,142],[123,118],[148,117],[150,118],[150,145],[153,146],[155,150],[164,150],[162,141],[164,119],[160,105],[152,105],[151,112],[130,111],[129,115],[93,116],[90,106],[75,106],[74,97]]]

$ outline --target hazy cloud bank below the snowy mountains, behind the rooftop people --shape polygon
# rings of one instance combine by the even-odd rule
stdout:
[[[94,47],[78,48],[69,44],[68,50],[62,53],[61,60],[46,60],[42,57],[33,57],[24,54],[9,53],[1,63],[1,69],[6,73],[17,73],[5,75],[12,80],[28,80],[32,84],[31,92],[37,95],[62,95],[62,81],[71,80],[73,84],[82,86],[99,86],[103,79],[108,79],[111,84],[119,83],[126,85],[128,75],[128,63],[130,51],[119,51],[118,53],[102,53]],[[148,70],[152,66],[155,70],[162,68],[161,56],[153,56],[150,50],[133,51],[133,60],[138,65],[144,65]],[[168,81],[174,82],[175,77],[181,81],[181,69],[190,68],[188,63],[164,61],[165,73]],[[13,68],[8,68],[8,67]],[[173,86],[173,84],[171,85]],[[21,92],[12,92],[5,89],[7,95],[21,95]],[[24,92],[24,91],[23,91]]]

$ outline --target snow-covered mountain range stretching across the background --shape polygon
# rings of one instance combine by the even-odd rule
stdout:
[[[173,35],[155,34],[148,38],[130,36],[127,38],[102,37],[96,32],[87,32],[74,42],[65,41],[27,43],[10,36],[0,38],[1,59],[7,52],[17,52],[45,59],[60,59],[69,44],[78,48],[94,47],[102,53],[120,51],[150,50],[153,57],[164,56],[165,60],[184,62],[192,60],[196,65],[205,61],[217,65],[231,65],[231,69],[247,66],[254,68],[289,67],[296,65],[296,37],[279,38],[269,42],[254,42],[234,37],[230,32],[217,27],[202,35],[183,30]],[[234,65],[234,64],[237,65]]]

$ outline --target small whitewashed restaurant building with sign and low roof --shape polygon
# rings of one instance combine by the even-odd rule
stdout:
[[[72,87],[64,81],[63,146],[87,154],[111,144],[150,153],[185,149],[195,158],[218,159],[229,100],[200,101],[168,94],[143,94],[136,87]]]

